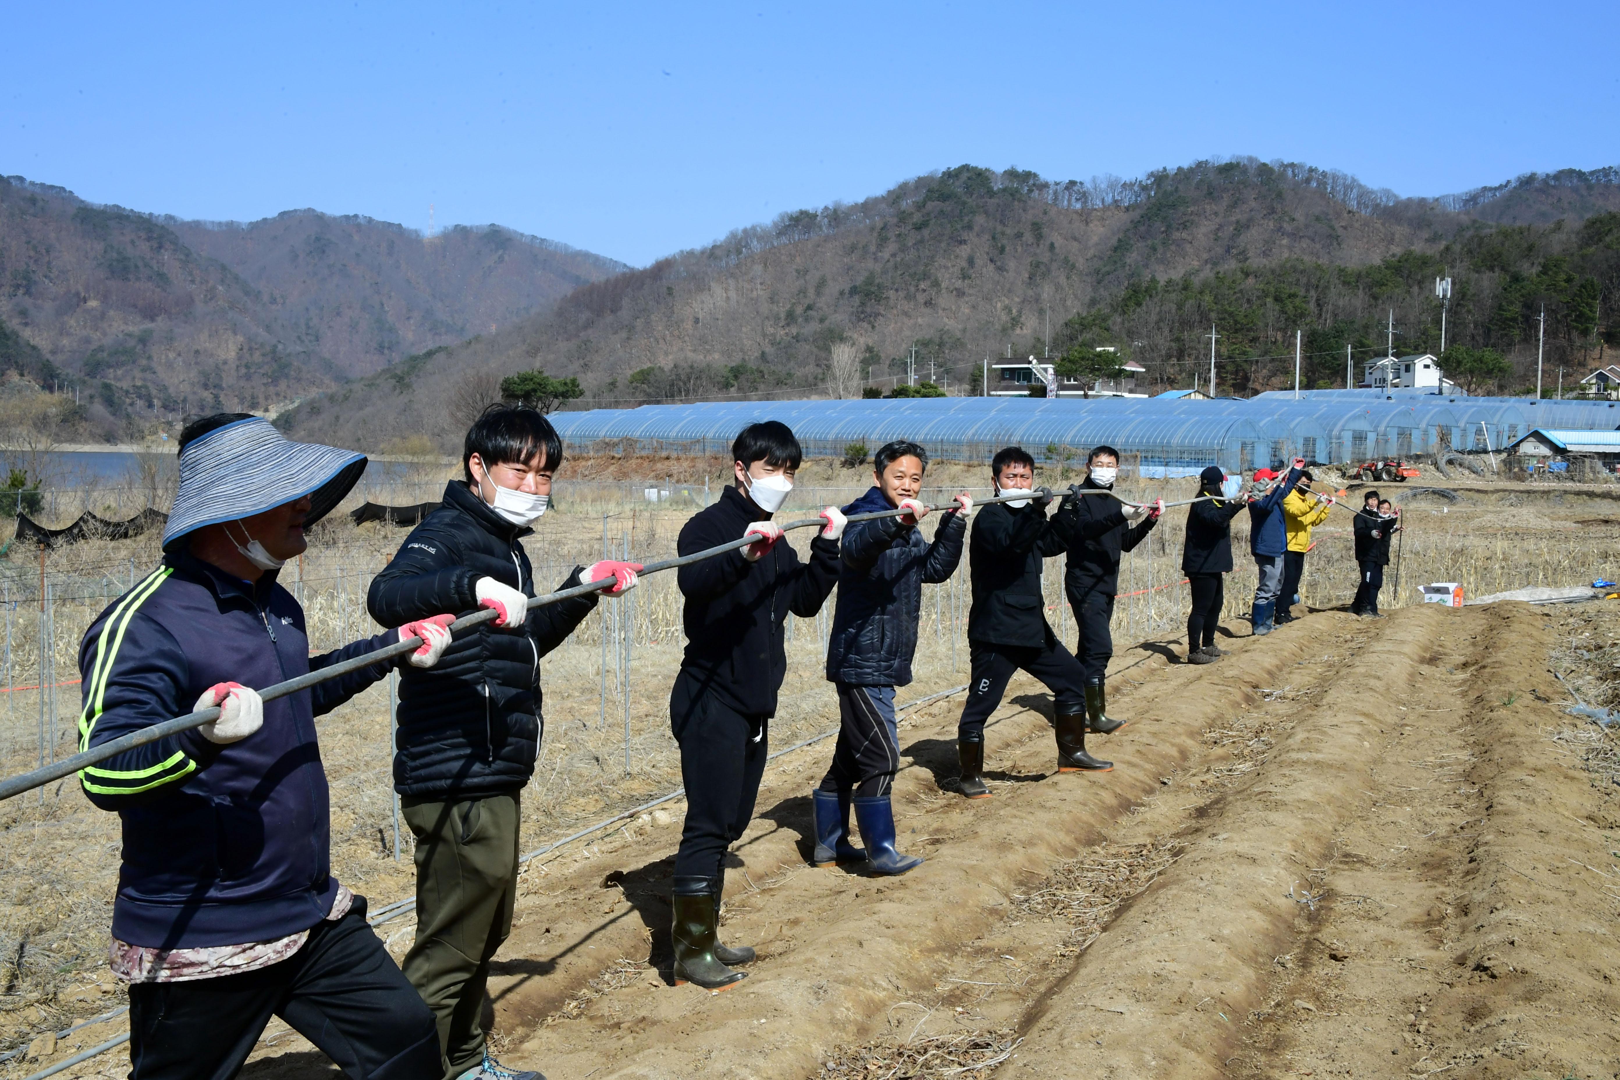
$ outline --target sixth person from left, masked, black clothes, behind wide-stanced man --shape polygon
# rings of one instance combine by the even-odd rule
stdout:
[[[1069,487],[1071,499],[1053,517],[1053,528],[1069,541],[1069,565],[1063,586],[1074,609],[1079,640],[1074,659],[1085,670],[1087,730],[1110,735],[1126,721],[1108,716],[1108,661],[1113,659],[1115,596],[1119,593],[1119,555],[1136,551],[1163,513],[1163,505],[1128,507],[1113,497],[1119,476],[1119,452],[1094,447],[1085,457],[1085,483]],[[1163,504],[1163,499],[1158,500]],[[1140,521],[1131,526],[1131,521]],[[1118,523],[1115,523],[1118,520]]]

